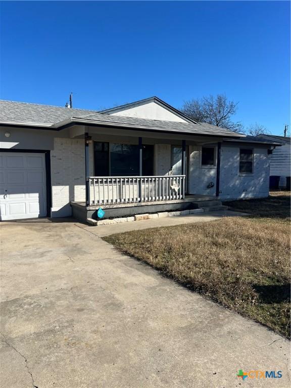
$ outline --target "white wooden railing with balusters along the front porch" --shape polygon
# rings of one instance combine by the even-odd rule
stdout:
[[[130,204],[185,198],[185,175],[89,176],[89,205]]]

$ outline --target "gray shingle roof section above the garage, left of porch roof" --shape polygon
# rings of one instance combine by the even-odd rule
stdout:
[[[0,100],[0,121],[55,124],[75,115],[93,112],[97,111]]]

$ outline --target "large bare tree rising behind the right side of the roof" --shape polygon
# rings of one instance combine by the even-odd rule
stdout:
[[[198,122],[205,122],[234,132],[243,131],[240,122],[234,122],[231,117],[236,113],[237,103],[228,101],[225,94],[210,94],[202,99],[186,101],[180,109],[185,115]]]

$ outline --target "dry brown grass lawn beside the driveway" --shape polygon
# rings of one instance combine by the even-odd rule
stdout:
[[[105,240],[290,337],[290,192],[227,205],[250,216],[136,230]]]

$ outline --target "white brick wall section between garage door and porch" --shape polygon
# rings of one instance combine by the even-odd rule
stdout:
[[[90,175],[93,153],[90,152]],[[52,217],[71,215],[70,201],[85,201],[85,150],[83,139],[58,138],[51,151]]]

